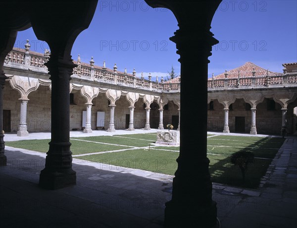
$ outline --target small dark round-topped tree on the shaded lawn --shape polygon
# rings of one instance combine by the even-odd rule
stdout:
[[[250,151],[239,151],[231,156],[231,162],[234,165],[238,165],[242,175],[243,182],[246,180],[247,164],[254,162],[254,155]]]

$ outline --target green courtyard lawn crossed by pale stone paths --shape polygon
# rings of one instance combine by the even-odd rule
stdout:
[[[250,188],[257,187],[284,140],[284,138],[277,137],[224,135],[207,138],[207,157],[210,160],[209,172],[212,182]],[[92,154],[76,158],[174,175],[177,169],[176,159],[179,156],[180,147],[153,146],[150,144],[155,141],[156,136],[154,134],[76,137],[70,139],[72,143],[71,151],[74,157],[85,153],[124,149],[118,152]],[[48,143],[49,139],[5,142],[8,146],[41,152],[48,151]],[[243,150],[249,150],[255,156],[254,163],[248,165],[245,183],[242,182],[239,167],[233,165],[230,160],[233,153]],[[199,148],[197,148],[197,152],[199,152]]]

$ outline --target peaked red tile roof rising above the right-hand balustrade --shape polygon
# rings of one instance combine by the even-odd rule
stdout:
[[[260,76],[266,76],[267,75],[267,69],[264,69],[262,67],[257,66],[256,64],[252,62],[246,62],[244,65],[237,67],[233,70],[227,71],[227,79],[230,78],[238,78],[238,74],[240,75],[240,78],[250,78],[253,77],[252,71],[255,71],[255,77]],[[225,79],[225,73],[219,74],[214,77],[214,79]],[[281,75],[282,73],[272,72],[268,71],[269,76],[274,75]],[[211,80],[211,78],[209,79]]]

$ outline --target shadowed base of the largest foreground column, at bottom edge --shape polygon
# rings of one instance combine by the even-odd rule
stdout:
[[[193,202],[173,203],[171,200],[165,205],[165,228],[216,227],[217,209],[214,201],[210,205],[203,205]]]

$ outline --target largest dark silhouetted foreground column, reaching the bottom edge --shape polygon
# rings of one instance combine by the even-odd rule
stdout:
[[[193,18],[193,21],[197,20]],[[211,46],[218,42],[207,29],[195,28],[199,34],[196,36],[193,27],[183,30],[182,25],[179,26],[170,40],[176,43],[180,54],[181,75],[191,77],[195,65],[201,77],[196,78],[195,83],[184,80],[181,85],[180,124],[183,128],[180,129],[180,153],[172,183],[172,198],[165,204],[164,225],[166,228],[212,228],[216,225],[217,209],[212,200],[207,158],[207,57],[211,54]],[[190,131],[193,125],[198,127]]]

